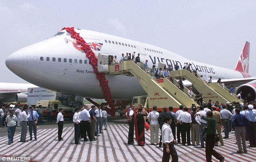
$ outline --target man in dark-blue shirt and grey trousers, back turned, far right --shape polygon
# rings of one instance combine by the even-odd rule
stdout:
[[[237,140],[238,154],[247,153],[246,149],[246,126],[250,123],[250,120],[245,115],[240,114],[241,109],[235,108],[235,115],[233,116],[231,123],[235,127],[235,139]],[[241,145],[241,139],[243,143],[243,150]]]

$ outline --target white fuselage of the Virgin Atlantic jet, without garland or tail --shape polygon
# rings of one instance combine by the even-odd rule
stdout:
[[[96,55],[116,55],[119,61],[122,53],[135,51],[135,56],[140,53],[141,61],[149,60],[148,65],[151,67],[153,64],[157,67],[158,62],[174,67],[177,61],[182,69],[184,62],[189,62],[192,69],[199,69],[198,74],[203,75],[204,79],[209,76],[213,79],[243,78],[238,71],[191,61],[157,46],[105,33],[78,29],[76,31],[88,43],[103,44],[100,51],[92,50]],[[75,48],[73,39],[65,30],[61,32],[64,33],[14,52],[6,59],[6,66],[22,79],[40,87],[86,98],[104,98],[85,53]],[[109,81],[113,99],[131,99],[133,96],[147,94],[136,77],[106,75],[106,79]]]

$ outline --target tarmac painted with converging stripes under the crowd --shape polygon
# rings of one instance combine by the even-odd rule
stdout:
[[[103,127],[104,128],[104,127]],[[58,127],[49,122],[38,125],[38,141],[21,143],[21,127],[17,127],[13,143],[8,145],[7,129],[0,129],[0,161],[34,161],[34,162],[160,162],[162,161],[163,147],[150,144],[150,131],[145,131],[145,146],[128,145],[128,124],[125,118],[116,116],[108,118],[107,130],[103,130],[96,141],[80,140],[81,144],[74,143],[74,127],[72,121],[64,121],[64,141],[58,141]],[[160,130],[159,130],[160,135]],[[224,133],[222,133],[224,137]],[[135,138],[135,136],[134,136]],[[29,133],[27,132],[27,140]],[[135,140],[135,139],[134,139]],[[256,162],[256,147],[249,147],[246,141],[248,154],[237,154],[235,133],[231,131],[229,139],[223,139],[225,145],[214,147],[225,157],[225,162]],[[205,148],[199,146],[175,145],[179,162],[204,162]],[[170,158],[171,161],[171,158]],[[213,162],[218,162],[212,157]]]

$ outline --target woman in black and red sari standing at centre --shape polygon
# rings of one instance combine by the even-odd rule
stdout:
[[[145,110],[139,106],[137,114],[134,116],[134,127],[135,127],[135,138],[138,145],[145,145],[145,123],[146,119],[144,116]]]

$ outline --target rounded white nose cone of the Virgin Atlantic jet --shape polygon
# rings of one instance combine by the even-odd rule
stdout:
[[[22,50],[17,50],[5,60],[5,64],[13,73],[17,74],[23,71],[24,59]]]

